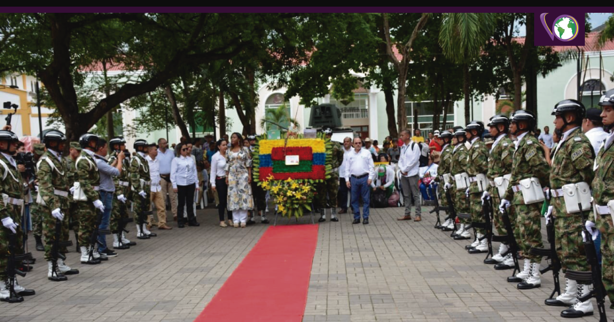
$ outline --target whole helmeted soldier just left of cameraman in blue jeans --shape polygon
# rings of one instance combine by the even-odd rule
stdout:
[[[99,225],[96,210],[104,212],[104,205],[100,201],[98,194],[100,174],[93,156],[96,144],[98,144],[98,136],[96,134],[86,133],[82,135],[79,138],[79,145],[81,145],[83,150],[77,161],[75,161],[77,169],[76,182],[79,183],[79,188],[74,190],[74,197],[77,199],[76,212],[79,217],[81,263],[90,265],[100,264],[101,261],[107,259],[101,258],[98,250],[96,250],[98,248],[95,245],[96,242],[91,242],[91,236],[95,230],[98,230]],[[79,200],[79,195],[81,194],[79,190],[85,195],[81,200]]]

